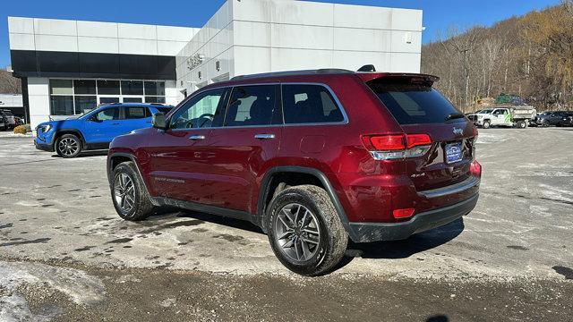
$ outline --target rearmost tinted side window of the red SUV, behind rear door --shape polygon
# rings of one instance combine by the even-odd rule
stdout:
[[[283,85],[285,123],[333,123],[344,114],[321,85]]]

